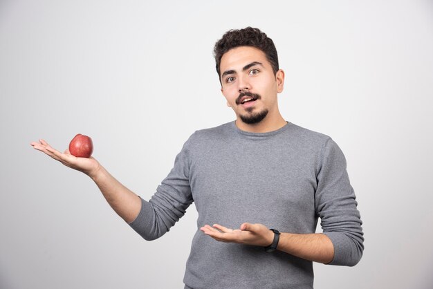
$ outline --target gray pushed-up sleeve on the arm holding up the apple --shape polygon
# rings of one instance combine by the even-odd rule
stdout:
[[[129,223],[147,241],[158,239],[168,232],[193,201],[189,180],[190,139],[176,156],[172,171],[158,186],[154,196],[149,201],[141,200],[140,213]]]

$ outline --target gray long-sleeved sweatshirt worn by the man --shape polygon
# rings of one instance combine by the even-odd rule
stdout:
[[[351,266],[364,249],[355,198],[344,155],[329,136],[290,122],[268,133],[229,122],[190,136],[129,225],[146,240],[159,238],[194,202],[199,218],[185,288],[313,288],[311,261],[215,241],[199,227],[248,222],[309,234],[320,218],[335,250],[331,264]]]

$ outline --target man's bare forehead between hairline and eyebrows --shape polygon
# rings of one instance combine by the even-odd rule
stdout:
[[[221,57],[220,71],[240,70],[251,62],[261,62],[264,66],[270,65],[266,55],[258,48],[251,46],[239,46],[232,48]]]

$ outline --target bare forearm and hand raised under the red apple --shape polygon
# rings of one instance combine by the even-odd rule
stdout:
[[[30,145],[62,162],[66,167],[71,167],[88,175],[98,185],[109,205],[126,222],[131,222],[138,216],[141,208],[140,198],[111,176],[95,158],[77,158],[71,155],[68,150],[61,153],[50,147],[45,140],[32,142]]]

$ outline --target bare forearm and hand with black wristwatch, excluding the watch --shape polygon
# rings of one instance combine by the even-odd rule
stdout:
[[[218,224],[205,225],[201,230],[217,241],[258,245],[266,247],[273,242],[274,233],[265,225],[243,223],[239,230],[232,230]],[[281,233],[277,250],[309,261],[329,263],[333,260],[334,248],[324,234]]]

